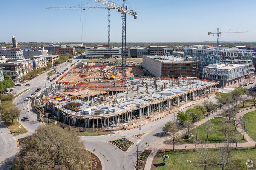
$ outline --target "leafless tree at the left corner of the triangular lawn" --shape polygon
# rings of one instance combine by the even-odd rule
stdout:
[[[164,124],[164,126],[165,126],[166,131],[168,132],[171,142],[173,144],[173,151],[175,151],[174,146],[179,140],[178,139],[178,136],[179,136],[178,128],[175,125],[175,122],[167,122]]]

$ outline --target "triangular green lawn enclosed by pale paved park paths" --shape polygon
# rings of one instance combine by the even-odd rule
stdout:
[[[228,120],[227,118],[223,117],[215,117],[213,119],[210,119],[211,123],[213,124],[210,128],[212,130],[212,133],[210,132],[208,135],[208,143],[223,143],[223,133],[222,133],[222,123],[221,120]],[[197,127],[197,137],[202,137],[203,139],[206,140],[207,138],[207,133],[204,132],[204,125],[206,123],[201,124],[200,126]],[[228,128],[230,128],[233,132],[235,130],[235,127],[232,124],[228,123]],[[189,139],[189,143],[193,143],[195,136],[196,136],[196,129],[192,130],[192,137]],[[238,139],[242,139],[243,136],[242,134],[239,133]],[[232,139],[236,139],[236,134],[232,133]],[[185,141],[185,140],[184,140]],[[247,140],[239,140],[239,142],[247,142]],[[189,144],[188,142],[185,142],[186,144]]]

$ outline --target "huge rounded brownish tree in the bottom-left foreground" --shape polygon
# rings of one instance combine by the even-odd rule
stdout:
[[[87,169],[90,155],[75,128],[39,126],[22,145],[13,169]]]

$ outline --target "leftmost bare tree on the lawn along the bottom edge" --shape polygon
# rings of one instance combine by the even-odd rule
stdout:
[[[197,144],[199,145],[199,148],[196,149],[197,151],[196,156],[198,157],[198,160],[203,166],[203,169],[206,170],[208,169],[210,165],[209,161],[212,158],[209,144],[205,143],[203,139],[198,140]]]

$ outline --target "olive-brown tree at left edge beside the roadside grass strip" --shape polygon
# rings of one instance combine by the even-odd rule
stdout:
[[[12,120],[13,124],[13,119],[17,118],[17,112],[18,115],[20,114],[19,108],[17,108],[16,105],[14,105],[11,101],[3,101],[0,104],[1,108],[1,113],[4,114],[9,120]]]

